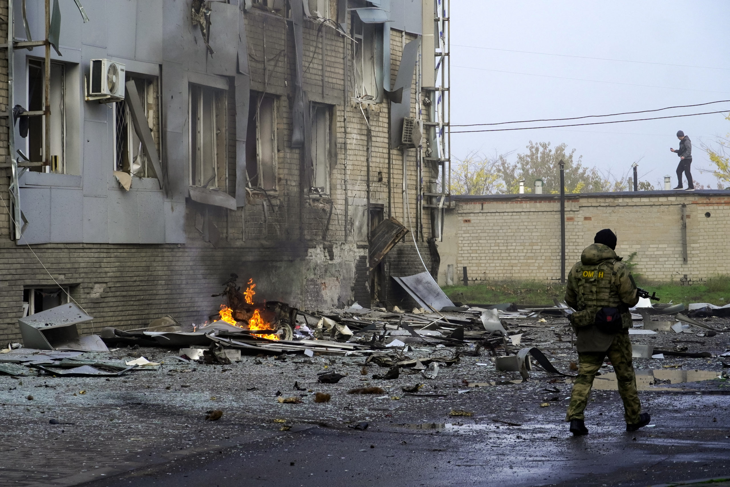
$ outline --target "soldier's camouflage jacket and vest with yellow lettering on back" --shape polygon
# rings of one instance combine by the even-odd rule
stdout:
[[[621,310],[621,333],[628,334],[629,307],[639,302],[639,296],[629,267],[610,247],[594,243],[583,250],[580,262],[570,269],[565,302],[576,310],[571,322],[576,328],[578,353],[604,352],[615,334],[603,333],[592,324],[596,312],[602,307],[617,307]]]

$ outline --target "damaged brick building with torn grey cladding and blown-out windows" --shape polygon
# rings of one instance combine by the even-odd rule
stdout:
[[[231,273],[415,306],[449,188],[448,2],[0,0],[0,337],[203,323]],[[240,283],[245,283],[239,280]]]

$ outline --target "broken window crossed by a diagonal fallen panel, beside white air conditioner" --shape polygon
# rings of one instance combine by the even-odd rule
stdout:
[[[139,99],[142,100],[142,109],[145,110],[147,125],[152,131],[155,149],[159,147],[159,122],[157,104],[157,79],[129,77],[137,86]],[[127,101],[118,101],[114,104],[114,170],[128,172],[137,177],[157,177],[152,161],[149,160],[142,147],[142,141],[134,130],[131,110]]]

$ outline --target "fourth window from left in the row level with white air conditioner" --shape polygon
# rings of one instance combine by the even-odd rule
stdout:
[[[252,93],[246,135],[246,172],[251,188],[276,189],[276,99]]]

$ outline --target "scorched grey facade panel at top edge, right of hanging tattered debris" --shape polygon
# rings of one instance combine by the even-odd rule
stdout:
[[[237,5],[220,1],[210,4],[210,47],[215,54],[207,57],[207,72],[223,76],[236,74],[239,19],[243,22]]]

